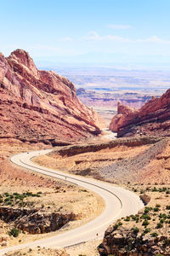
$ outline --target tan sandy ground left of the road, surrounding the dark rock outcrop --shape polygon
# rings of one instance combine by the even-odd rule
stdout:
[[[72,185],[71,183],[61,182],[60,180],[46,177],[38,173],[23,170],[14,166],[8,161],[11,154],[17,154],[22,151],[42,148],[42,145],[35,145],[33,148],[29,144],[12,141],[8,144],[6,141],[0,141],[0,195],[4,193],[13,194],[41,193],[40,197],[29,197],[24,201],[28,208],[42,208],[46,212],[74,212],[77,216],[75,221],[65,224],[60,230],[48,234],[28,235],[20,232],[18,237],[8,236],[13,224],[0,222],[0,234],[8,236],[8,245],[12,246],[20,242],[34,241],[43,237],[54,236],[58,233],[77,228],[96,218],[104,209],[104,201],[87,189]],[[3,198],[5,199],[5,198]],[[0,207],[5,206],[4,202]],[[11,206],[19,207],[19,206]]]

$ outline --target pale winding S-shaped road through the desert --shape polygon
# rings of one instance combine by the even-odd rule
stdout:
[[[52,169],[38,166],[31,162],[31,158],[40,154],[47,154],[52,149],[32,151],[29,153],[15,154],[10,160],[18,165],[31,171],[40,172],[50,177],[56,177],[67,182],[76,183],[86,189],[90,189],[100,195],[105,201],[105,210],[97,218],[83,224],[75,230],[70,230],[60,235],[43,238],[41,240],[27,242],[18,246],[6,247],[0,249],[0,255],[10,250],[20,249],[23,247],[67,247],[82,241],[89,241],[104,236],[106,228],[117,218],[122,218],[130,214],[135,214],[144,207],[143,202],[138,195],[127,189],[113,186],[110,183],[101,182],[87,177],[79,177]],[[98,234],[98,236],[97,236]]]

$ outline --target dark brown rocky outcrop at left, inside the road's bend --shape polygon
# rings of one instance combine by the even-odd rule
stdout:
[[[16,228],[29,234],[43,234],[59,230],[69,221],[75,220],[77,216],[73,212],[46,213],[39,209],[0,207],[0,218],[6,223],[14,224]]]

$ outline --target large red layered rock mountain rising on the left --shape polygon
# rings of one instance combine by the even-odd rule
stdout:
[[[0,137],[46,142],[98,134],[104,122],[77,98],[74,84],[38,70],[28,53],[0,53]]]

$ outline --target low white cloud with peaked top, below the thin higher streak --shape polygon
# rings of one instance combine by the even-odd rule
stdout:
[[[114,35],[100,36],[95,31],[88,32],[88,35],[86,35],[82,39],[94,40],[94,41],[111,40],[111,41],[115,41],[115,42],[125,42],[125,43],[130,42],[130,40],[127,38],[122,38],[122,37],[118,37],[118,36],[114,36]]]

